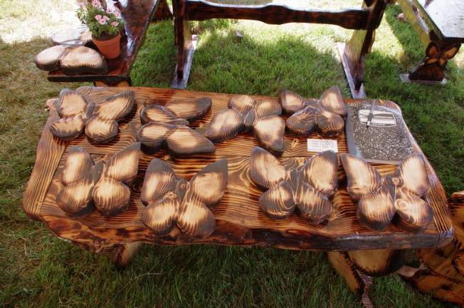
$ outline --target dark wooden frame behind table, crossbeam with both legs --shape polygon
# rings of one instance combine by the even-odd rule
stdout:
[[[266,24],[290,22],[335,24],[354,29],[352,39],[339,46],[344,71],[354,98],[365,97],[363,82],[364,56],[374,42],[388,0],[365,0],[362,9],[322,11],[293,9],[283,4],[255,6],[216,4],[206,0],[174,0],[174,36],[177,45],[177,66],[172,88],[185,88],[189,78],[195,40],[192,40],[189,21],[206,19],[253,19]]]

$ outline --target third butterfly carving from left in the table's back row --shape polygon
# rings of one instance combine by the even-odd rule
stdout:
[[[285,122],[277,101],[255,101],[251,96],[236,95],[228,101],[228,109],[213,116],[205,136],[213,143],[231,139],[242,131],[253,130],[263,148],[275,155],[284,150]]]

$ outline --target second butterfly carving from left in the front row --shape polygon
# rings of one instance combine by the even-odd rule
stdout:
[[[177,226],[186,235],[207,237],[216,228],[209,207],[223,197],[227,178],[227,159],[207,165],[187,182],[177,178],[168,163],[153,158],[140,196],[147,205],[142,221],[157,235],[165,235]]]

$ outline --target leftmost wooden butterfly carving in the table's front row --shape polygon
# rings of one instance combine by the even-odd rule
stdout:
[[[111,158],[94,163],[78,146],[68,151],[61,177],[63,188],[57,205],[73,216],[83,216],[97,208],[102,215],[115,216],[130,204],[128,185],[137,177],[140,143],[134,143]]]

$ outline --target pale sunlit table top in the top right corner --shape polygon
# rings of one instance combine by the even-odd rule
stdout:
[[[464,42],[464,1],[462,0],[413,0],[441,39]]]

